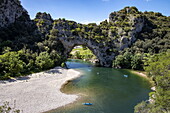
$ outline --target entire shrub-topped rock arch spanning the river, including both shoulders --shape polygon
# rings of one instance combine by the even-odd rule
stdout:
[[[121,17],[123,21],[126,21],[125,24],[129,26],[128,29],[125,26],[117,25],[117,17]],[[55,40],[61,42],[64,48],[62,55],[66,58],[68,58],[69,53],[76,45],[84,45],[97,57],[100,66],[111,67],[112,61],[118,54],[118,51],[130,47],[136,41],[137,34],[140,33],[145,26],[145,19],[144,16],[140,14],[130,14],[129,11],[125,12],[123,17],[121,12],[113,12],[109,16],[109,23],[104,22],[103,26],[106,28],[102,29],[99,27],[100,25],[98,26],[92,23],[96,31],[92,31],[90,28],[88,29],[86,25],[83,26],[83,24],[74,21],[65,19],[53,20],[51,16],[46,13],[38,13],[35,20],[37,20],[38,28],[43,34],[49,34]],[[118,26],[114,29],[116,33],[112,33],[113,28],[107,27],[107,25],[111,25],[113,28]],[[85,27],[83,32],[89,34],[82,33],[80,26]],[[91,35],[92,32],[105,32],[107,35],[103,35],[102,33],[99,33],[99,35]],[[114,38],[114,36],[116,36],[116,38]]]

